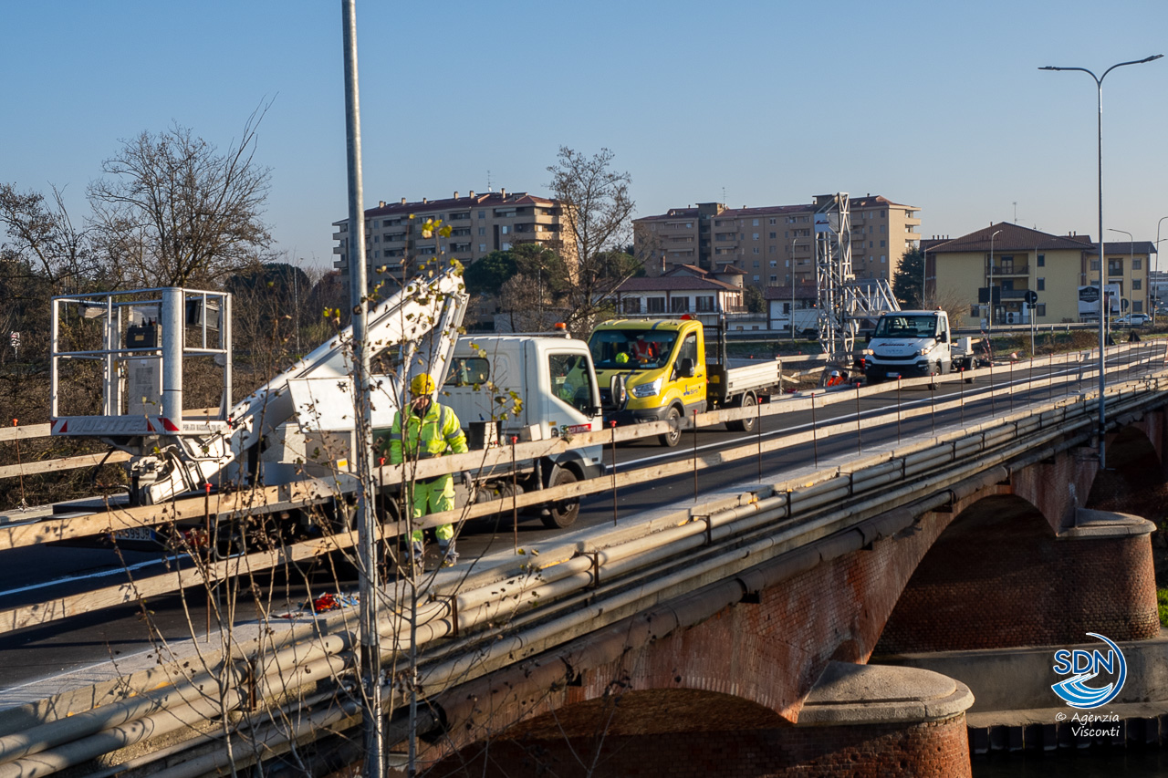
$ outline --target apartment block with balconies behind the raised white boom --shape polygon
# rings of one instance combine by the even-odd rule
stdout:
[[[571,225],[556,200],[506,189],[444,200],[401,202],[366,210],[366,266],[369,285],[412,275],[411,266],[444,253],[468,265],[492,251],[506,251],[520,243],[540,243],[575,258]],[[423,235],[427,221],[451,227],[450,237]],[[347,218],[333,222],[333,266],[348,277]],[[565,239],[565,237],[568,239]]]

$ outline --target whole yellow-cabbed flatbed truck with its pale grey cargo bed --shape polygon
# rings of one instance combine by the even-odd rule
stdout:
[[[605,423],[677,422],[722,408],[749,408],[781,391],[783,362],[769,360],[728,366],[725,327],[717,328],[708,349],[702,322],[680,319],[613,319],[592,331],[589,349],[596,366]],[[712,355],[710,352],[712,350]],[[728,422],[732,431],[750,432],[756,419]],[[675,446],[676,426],[658,438]]]

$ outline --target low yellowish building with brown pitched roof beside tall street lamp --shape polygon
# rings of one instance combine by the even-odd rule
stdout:
[[[1079,287],[1099,279],[1099,248],[1089,236],[1050,235],[999,222],[952,239],[924,241],[929,294],[960,301],[959,327],[1079,321]],[[1120,310],[1147,313],[1149,241],[1107,242],[1105,283],[1120,294]],[[990,291],[992,290],[992,291]],[[1035,292],[1031,311],[1027,293]],[[948,307],[948,306],[946,306]]]

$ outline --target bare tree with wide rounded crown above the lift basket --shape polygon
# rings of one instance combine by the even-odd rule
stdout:
[[[271,244],[269,169],[255,162],[259,109],[225,153],[175,124],[124,140],[89,187],[97,243],[128,285],[214,285]]]

